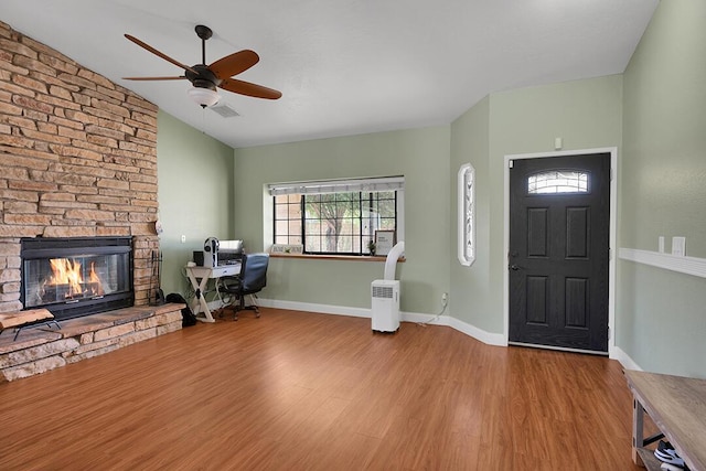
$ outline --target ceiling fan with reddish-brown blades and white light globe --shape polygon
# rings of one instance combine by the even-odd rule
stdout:
[[[255,51],[243,50],[233,54],[226,55],[214,62],[211,65],[206,65],[206,40],[213,35],[211,28],[199,24],[195,28],[196,35],[201,38],[201,64],[184,65],[179,61],[175,61],[167,54],[156,50],[151,45],[138,40],[137,38],[126,34],[125,38],[132,41],[151,52],[154,55],[162,57],[164,61],[171,62],[175,66],[184,69],[184,75],[175,77],[122,77],[126,81],[178,81],[186,78],[193,85],[193,88],[189,90],[189,95],[201,105],[203,108],[215,105],[220,96],[216,93],[216,87],[224,90],[233,92],[240,95],[247,95],[255,98],[278,99],[282,96],[281,92],[272,88],[267,88],[261,85],[252,84],[249,82],[238,81],[232,78],[234,75],[240,74],[255,64],[258,63],[260,57]]]

